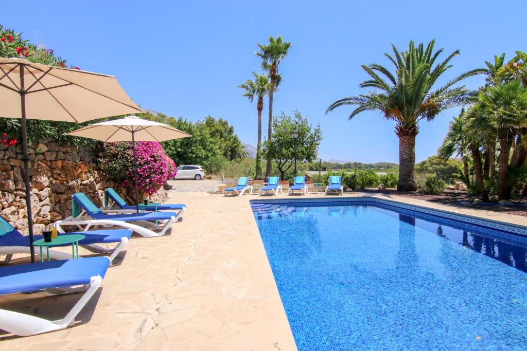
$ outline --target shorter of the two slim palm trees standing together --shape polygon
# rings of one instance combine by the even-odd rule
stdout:
[[[262,169],[260,164],[261,159],[261,141],[262,141],[262,110],[264,109],[264,96],[269,94],[269,77],[265,74],[258,74],[252,72],[255,77],[253,81],[247,79],[245,83],[238,87],[243,89],[243,96],[247,97],[252,103],[253,99],[257,98],[256,109],[258,111],[258,141],[256,144],[256,178],[262,176]]]

